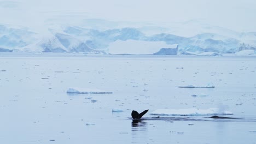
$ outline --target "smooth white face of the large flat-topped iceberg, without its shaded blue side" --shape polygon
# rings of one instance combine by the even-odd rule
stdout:
[[[164,41],[117,40],[109,44],[110,54],[152,55],[162,48],[176,49],[177,44],[168,45]]]

